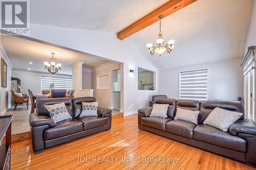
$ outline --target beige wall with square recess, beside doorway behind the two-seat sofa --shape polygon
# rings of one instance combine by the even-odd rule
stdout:
[[[99,101],[99,107],[111,108],[112,99],[112,76],[111,71],[120,69],[120,64],[109,62],[97,66],[92,70],[92,89],[94,89],[94,97]],[[108,89],[97,89],[97,77],[109,75]],[[122,78],[121,78],[122,79]]]

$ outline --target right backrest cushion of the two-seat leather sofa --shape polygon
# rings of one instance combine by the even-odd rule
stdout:
[[[74,110],[74,118],[79,117],[82,111],[82,102],[96,102],[96,99],[93,97],[81,97],[81,98],[73,98],[73,110]]]

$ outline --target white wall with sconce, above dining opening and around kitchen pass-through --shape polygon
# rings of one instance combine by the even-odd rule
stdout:
[[[115,33],[30,24],[30,37],[73,48],[109,60],[123,63],[124,115],[135,114],[157,91],[138,91],[138,67],[157,69],[127,40],[119,40]],[[145,42],[146,43],[146,42]],[[130,74],[130,69],[134,74]]]

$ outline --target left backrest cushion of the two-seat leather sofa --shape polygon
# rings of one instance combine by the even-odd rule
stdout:
[[[73,105],[70,98],[55,98],[55,99],[40,99],[36,102],[36,109],[38,114],[50,116],[45,105],[54,105],[57,103],[65,103],[69,114],[73,117]]]

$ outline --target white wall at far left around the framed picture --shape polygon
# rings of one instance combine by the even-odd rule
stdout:
[[[1,43],[1,39],[0,39]],[[0,87],[0,115],[3,115],[6,113],[8,108],[11,105],[11,74],[12,74],[12,65],[8,59],[8,56],[6,55],[2,44],[0,44],[0,60],[3,58],[7,64],[7,87]],[[1,63],[1,61],[0,61]],[[1,69],[1,64],[0,64]],[[0,71],[1,72],[1,71]],[[0,74],[0,86],[1,86],[1,74]]]

